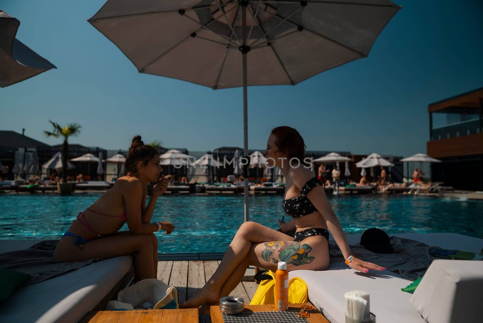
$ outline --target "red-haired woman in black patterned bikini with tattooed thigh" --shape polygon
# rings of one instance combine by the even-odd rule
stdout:
[[[369,269],[385,269],[351,255],[347,237],[327,201],[322,183],[310,167],[303,166],[304,153],[305,144],[297,130],[277,127],[271,131],[264,155],[269,159],[270,167],[278,166],[284,174],[286,191],[282,206],[293,219],[279,221],[282,232],[256,222],[241,224],[211,279],[181,304],[181,308],[217,304],[220,297],[230,294],[240,283],[248,265],[275,271],[277,263],[283,261],[289,271],[326,270],[329,264],[328,229],[351,268],[366,273]],[[299,163],[289,163],[294,158]],[[293,229],[296,229],[294,236],[284,234]]]

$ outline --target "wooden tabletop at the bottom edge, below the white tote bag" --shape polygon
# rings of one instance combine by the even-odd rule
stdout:
[[[198,308],[147,309],[147,310],[101,310],[87,313],[81,323],[191,323],[199,322]]]

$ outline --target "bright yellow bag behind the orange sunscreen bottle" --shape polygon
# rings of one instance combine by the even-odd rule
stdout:
[[[256,274],[261,277],[260,285],[250,301],[250,305],[275,304],[275,275],[271,270],[263,270]],[[257,279],[258,280],[258,279]],[[294,277],[288,281],[288,302],[291,304],[307,303],[308,288],[305,281]]]

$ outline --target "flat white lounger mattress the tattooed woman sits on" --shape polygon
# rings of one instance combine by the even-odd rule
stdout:
[[[358,243],[361,235],[348,235],[350,244]],[[446,249],[479,252],[483,239],[458,234],[396,234],[401,238],[421,241],[431,246]],[[377,264],[377,259],[373,261]],[[331,264],[326,271],[295,270],[289,278],[300,277],[309,287],[309,300],[319,308],[331,323],[345,322],[344,293],[363,290],[370,294],[370,310],[377,322],[425,322],[412,307],[412,294],[401,288],[412,281],[395,272],[369,271],[364,274],[349,268],[344,263]],[[418,287],[419,288],[419,287]],[[416,290],[417,291],[417,290]]]

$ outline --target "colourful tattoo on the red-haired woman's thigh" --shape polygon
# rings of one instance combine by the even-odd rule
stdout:
[[[287,264],[301,265],[310,264],[315,257],[309,257],[312,248],[306,243],[294,241],[273,241],[266,242],[265,250],[262,251],[262,258],[267,262],[278,263],[284,261]],[[280,258],[280,260],[277,258]]]

